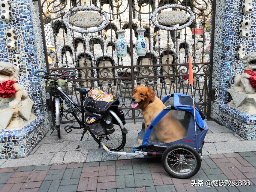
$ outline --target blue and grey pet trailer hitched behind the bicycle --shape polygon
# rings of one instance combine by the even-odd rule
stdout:
[[[167,173],[176,178],[187,179],[194,176],[201,166],[203,159],[202,147],[208,131],[208,126],[204,120],[205,116],[198,104],[194,103],[194,120],[193,99],[188,95],[169,94],[162,99],[162,102],[166,107],[151,122],[146,131],[143,123],[133,146],[134,153],[112,152],[107,149],[104,143],[101,143],[101,146],[108,153],[114,155],[133,157],[144,157],[144,155],[161,156],[163,167]],[[151,140],[150,135],[154,133],[154,127],[167,113],[172,113],[186,128],[187,137],[171,143],[159,143],[157,140]]]

